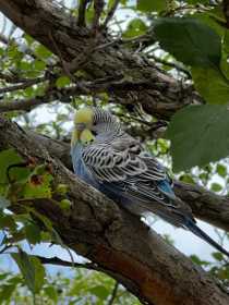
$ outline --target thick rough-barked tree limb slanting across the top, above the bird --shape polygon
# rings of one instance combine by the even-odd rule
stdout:
[[[70,66],[72,61],[77,61],[88,50],[94,40],[91,29],[79,27],[74,17],[51,1],[0,0],[0,10],[52,52],[60,53]],[[112,41],[101,34],[96,39],[97,46]],[[52,40],[58,45],[58,51]],[[107,48],[98,48],[89,54],[83,68],[77,69],[83,69],[93,80],[111,77],[121,82],[131,80],[133,83],[141,81],[142,84],[154,84],[154,88],[140,90],[125,86],[122,90],[114,87],[108,93],[116,102],[140,102],[146,112],[161,119],[168,119],[180,108],[200,100],[192,86],[183,85],[159,71],[144,56],[132,53],[118,45],[108,44]]]

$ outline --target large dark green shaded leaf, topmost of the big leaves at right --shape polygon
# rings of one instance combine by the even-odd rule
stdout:
[[[159,19],[154,33],[161,48],[179,61],[194,66],[219,66],[220,37],[207,25],[194,19]]]

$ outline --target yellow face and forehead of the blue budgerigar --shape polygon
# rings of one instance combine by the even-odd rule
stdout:
[[[72,134],[72,146],[79,142],[83,145],[91,144],[94,142],[95,136],[92,133],[93,126],[93,109],[83,108],[80,109],[74,117],[74,131]]]

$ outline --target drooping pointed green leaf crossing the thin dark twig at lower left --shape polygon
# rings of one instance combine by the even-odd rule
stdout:
[[[39,292],[45,283],[45,269],[39,259],[28,256],[22,249],[19,253],[12,253],[11,256],[19,266],[27,288],[33,294]]]

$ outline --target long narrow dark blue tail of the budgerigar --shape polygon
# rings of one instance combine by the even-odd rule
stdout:
[[[209,245],[214,246],[219,252],[224,253],[229,258],[229,252],[227,252],[224,247],[221,247],[218,243],[216,243],[213,239],[210,239],[204,231],[202,231],[192,219],[185,219],[184,227],[189,229],[196,236],[201,237]]]

